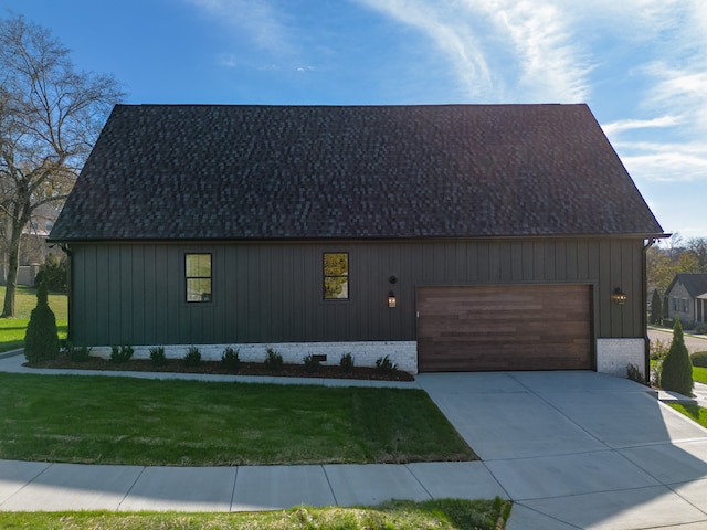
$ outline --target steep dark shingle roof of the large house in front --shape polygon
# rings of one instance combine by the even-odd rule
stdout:
[[[662,232],[585,105],[120,105],[51,239]]]

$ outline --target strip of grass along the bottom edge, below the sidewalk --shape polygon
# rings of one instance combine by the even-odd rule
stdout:
[[[371,508],[297,507],[256,513],[7,512],[0,513],[0,527],[33,530],[502,530],[509,515],[510,502],[500,499],[441,499],[425,502],[395,500]]]

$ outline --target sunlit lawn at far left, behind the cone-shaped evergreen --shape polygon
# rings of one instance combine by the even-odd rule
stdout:
[[[4,290],[6,287],[0,286],[0,300],[4,300]],[[30,314],[36,306],[36,289],[19,285],[14,304],[17,318],[0,318],[0,352],[15,350],[24,346],[24,333],[27,325],[30,322]],[[68,331],[66,295],[50,294],[49,305],[56,317],[59,337],[63,339]]]

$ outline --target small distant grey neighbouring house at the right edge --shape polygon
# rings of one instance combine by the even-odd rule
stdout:
[[[676,274],[665,297],[668,318],[679,316],[687,329],[707,325],[707,274]]]

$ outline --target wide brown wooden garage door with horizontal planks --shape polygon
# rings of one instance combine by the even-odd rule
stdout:
[[[421,372],[587,370],[588,285],[418,288]]]

